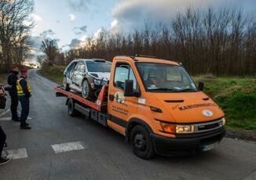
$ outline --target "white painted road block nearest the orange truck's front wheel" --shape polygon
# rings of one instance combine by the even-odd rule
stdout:
[[[52,148],[55,153],[64,153],[72,150],[86,149],[86,147],[82,145],[82,142],[54,144],[52,145]]]

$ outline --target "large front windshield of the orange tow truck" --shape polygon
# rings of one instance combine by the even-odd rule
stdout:
[[[149,92],[196,92],[197,88],[183,67],[164,63],[137,63]]]

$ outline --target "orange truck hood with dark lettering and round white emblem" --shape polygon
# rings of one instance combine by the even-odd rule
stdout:
[[[224,117],[223,111],[203,92],[154,93],[164,112],[170,117],[166,121],[196,123]]]

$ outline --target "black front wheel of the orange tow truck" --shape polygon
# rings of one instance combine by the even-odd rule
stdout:
[[[130,133],[131,142],[133,145],[133,153],[142,159],[151,159],[155,155],[152,139],[146,128],[137,125]]]

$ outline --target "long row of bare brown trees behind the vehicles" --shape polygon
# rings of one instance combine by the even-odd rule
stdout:
[[[174,59],[192,74],[255,75],[255,16],[240,9],[190,8],[170,23],[147,23],[130,34],[101,32],[65,52],[65,61],[135,54]]]

